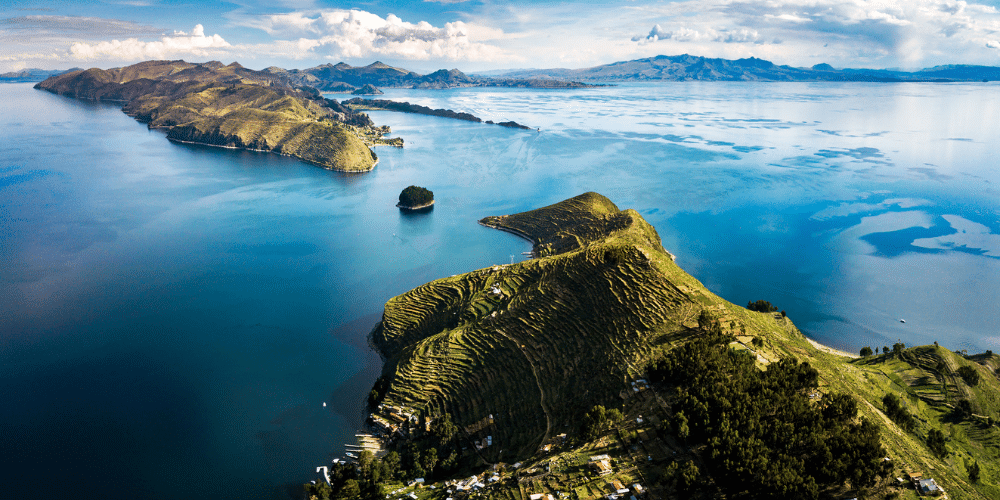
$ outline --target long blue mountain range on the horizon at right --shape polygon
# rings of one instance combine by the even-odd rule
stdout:
[[[616,81],[981,81],[1000,80],[993,66],[935,66],[915,72],[872,69],[835,69],[829,64],[811,68],[778,66],[770,61],[712,59],[683,54],[619,61],[582,69],[515,70],[493,74],[492,79],[555,79],[581,82]]]

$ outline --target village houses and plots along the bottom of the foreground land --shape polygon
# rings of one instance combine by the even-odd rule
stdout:
[[[630,382],[630,390],[622,390],[619,397],[625,421],[594,442],[580,445],[562,433],[541,445],[529,463],[489,464],[481,460],[484,471],[476,475],[436,482],[413,478],[392,483],[387,485],[391,490],[386,493],[386,500],[676,498],[662,478],[670,474],[671,464],[698,462],[698,450],[685,447],[669,432],[665,421],[671,414],[670,403],[647,380]],[[821,398],[822,393],[811,397]],[[361,451],[381,457],[391,441],[419,431],[429,432],[432,423],[429,418],[421,421],[411,409],[379,405],[370,415],[373,432],[356,434],[358,443],[345,445],[347,458],[333,462],[356,462]],[[488,415],[465,427],[465,437],[476,451],[493,446],[496,443],[488,432],[496,424],[493,416]],[[889,457],[885,460],[891,461]],[[326,467],[317,468],[318,473],[325,470]],[[901,474],[885,481],[880,490],[893,498],[948,498],[933,478],[915,471]],[[857,500],[847,496],[831,498]]]

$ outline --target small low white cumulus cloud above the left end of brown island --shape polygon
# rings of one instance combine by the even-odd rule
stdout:
[[[206,36],[205,28],[199,24],[190,34],[175,32],[155,41],[128,38],[96,43],[75,42],[69,47],[69,56],[80,61],[211,57],[221,54],[229,47],[231,45],[217,34]]]

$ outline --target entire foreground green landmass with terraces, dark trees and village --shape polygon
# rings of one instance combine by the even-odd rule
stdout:
[[[536,258],[386,303],[371,434],[307,498],[1000,497],[993,353],[815,344],[596,193],[480,223]]]

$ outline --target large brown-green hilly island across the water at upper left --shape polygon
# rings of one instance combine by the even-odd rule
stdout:
[[[81,99],[115,101],[150,128],[184,143],[270,151],[330,170],[375,168],[387,127],[282,75],[232,63],[146,61],[50,77],[35,86]]]

